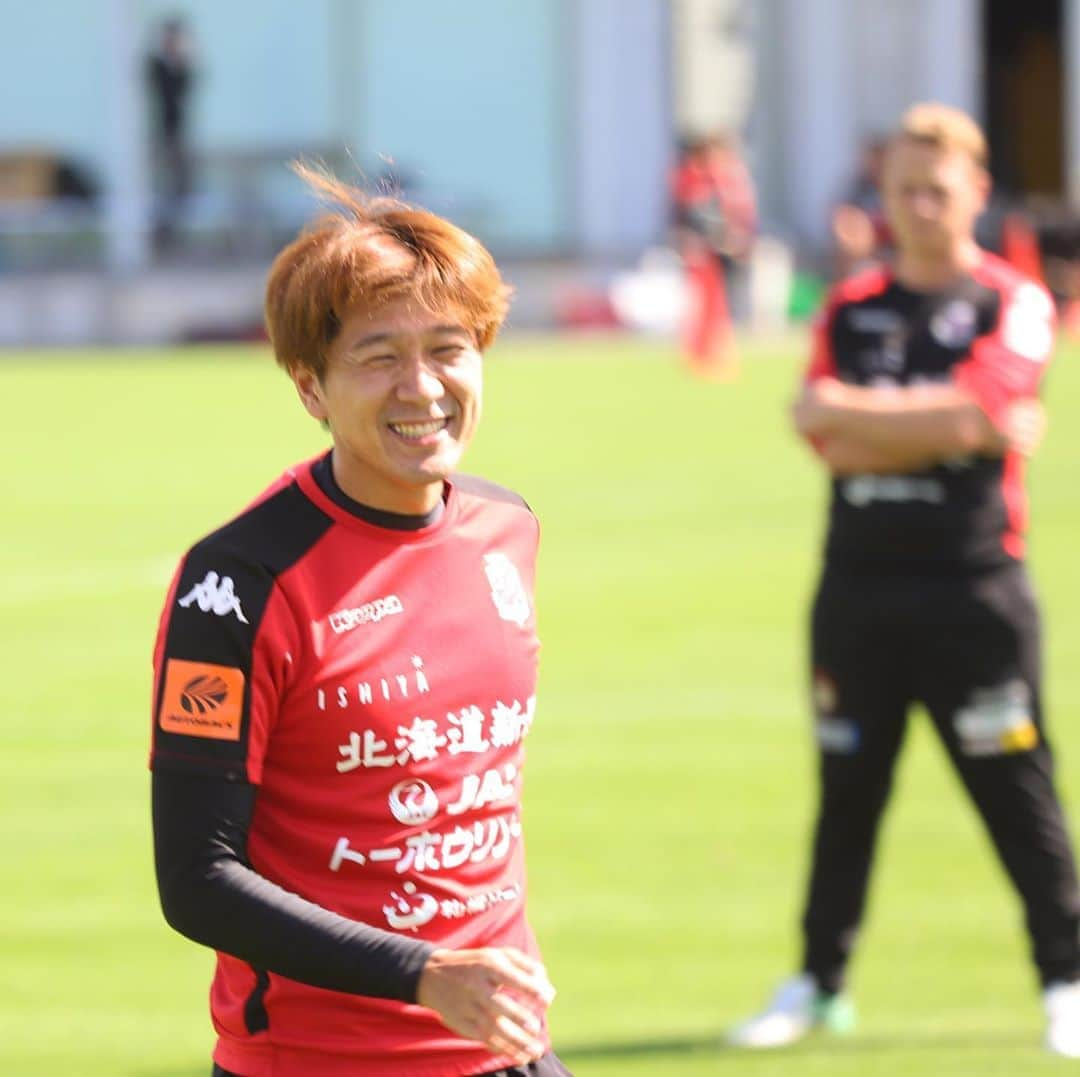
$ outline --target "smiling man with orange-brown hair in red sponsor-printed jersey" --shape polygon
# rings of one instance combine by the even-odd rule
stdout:
[[[165,916],[217,951],[214,1073],[556,1077],[525,918],[537,522],[460,475],[509,290],[330,177],[278,256],[278,362],[333,447],[183,558],[154,648]]]

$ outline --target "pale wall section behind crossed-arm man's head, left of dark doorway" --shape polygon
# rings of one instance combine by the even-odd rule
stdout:
[[[758,0],[753,146],[766,217],[822,247],[863,138],[918,100],[981,119],[980,18],[980,0]]]

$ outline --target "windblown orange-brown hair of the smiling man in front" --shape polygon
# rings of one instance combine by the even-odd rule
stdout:
[[[448,220],[363,191],[306,164],[297,175],[336,204],[306,228],[270,267],[264,313],[274,358],[291,373],[326,373],[326,349],[356,308],[410,297],[429,310],[454,310],[484,351],[510,306],[487,248]]]

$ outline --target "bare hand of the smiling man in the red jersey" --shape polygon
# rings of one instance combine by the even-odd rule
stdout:
[[[544,967],[519,950],[436,950],[416,1000],[443,1024],[524,1065],[543,1054],[542,1015],[555,988]]]

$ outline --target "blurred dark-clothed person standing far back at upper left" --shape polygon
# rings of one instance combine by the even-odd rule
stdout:
[[[175,235],[184,200],[191,192],[189,103],[194,82],[191,35],[183,19],[167,18],[147,58],[154,167],[161,199],[156,239],[167,245]]]

